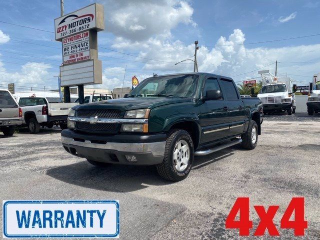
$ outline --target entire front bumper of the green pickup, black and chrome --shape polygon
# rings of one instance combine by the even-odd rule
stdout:
[[[166,135],[105,136],[65,129],[61,137],[64,149],[81,158],[113,164],[155,165],[163,161]],[[134,159],[127,160],[128,155]]]

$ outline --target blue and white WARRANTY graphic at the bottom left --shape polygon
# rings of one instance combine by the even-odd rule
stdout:
[[[3,238],[118,236],[118,201],[3,201]]]

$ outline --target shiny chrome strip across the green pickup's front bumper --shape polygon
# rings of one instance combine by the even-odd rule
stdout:
[[[84,142],[75,141],[73,138],[61,137],[62,143],[66,145],[97,148],[105,150],[115,150],[119,152],[128,153],[152,153],[153,156],[163,156],[165,149],[165,142],[154,143],[114,143],[107,142],[106,144],[91,143],[85,140]]]

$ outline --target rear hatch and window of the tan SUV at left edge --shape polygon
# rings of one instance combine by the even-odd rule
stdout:
[[[19,108],[8,91],[0,90],[0,126],[3,121],[16,120],[19,118]]]

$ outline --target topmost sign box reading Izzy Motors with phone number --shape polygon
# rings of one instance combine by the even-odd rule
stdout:
[[[77,11],[54,19],[55,40],[95,28],[104,29],[103,6],[93,3]]]

